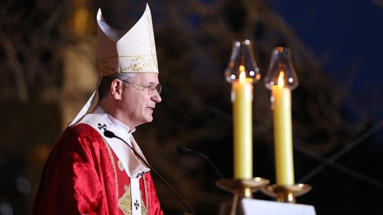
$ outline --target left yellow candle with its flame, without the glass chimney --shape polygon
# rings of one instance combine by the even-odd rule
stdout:
[[[252,138],[252,79],[246,78],[244,66],[240,67],[240,78],[233,82],[233,135],[234,135],[234,179],[253,177]]]

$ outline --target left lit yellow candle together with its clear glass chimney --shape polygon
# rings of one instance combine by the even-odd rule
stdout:
[[[235,40],[225,79],[233,103],[234,179],[253,178],[253,84],[260,78],[250,40]]]

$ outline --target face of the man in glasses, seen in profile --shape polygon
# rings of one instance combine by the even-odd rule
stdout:
[[[138,86],[155,88],[158,82],[158,74],[141,73],[135,76],[131,83],[124,84],[121,99],[121,111],[124,113],[123,123],[127,124],[130,129],[140,124],[151,122],[153,120],[153,111],[156,103],[161,101],[161,96],[156,90],[149,94],[147,88]]]

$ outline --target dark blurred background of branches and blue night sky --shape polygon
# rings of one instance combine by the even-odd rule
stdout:
[[[233,39],[252,39],[261,81],[254,85],[254,176],[275,182],[270,91],[263,85],[275,46],[292,49],[298,203],[317,214],[378,214],[383,199],[383,1],[147,1],[163,85],[154,121],[135,139],[148,161],[198,214],[218,214],[232,195],[230,89]],[[0,3],[0,214],[28,214],[47,155],[97,82],[95,14],[129,29],[145,1],[4,0]],[[183,206],[154,176],[162,209]],[[272,200],[261,193],[254,198]]]

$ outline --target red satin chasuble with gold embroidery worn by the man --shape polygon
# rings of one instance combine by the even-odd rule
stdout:
[[[152,176],[139,179],[132,202],[130,178],[109,144],[88,124],[68,127],[46,160],[32,214],[163,214]]]

